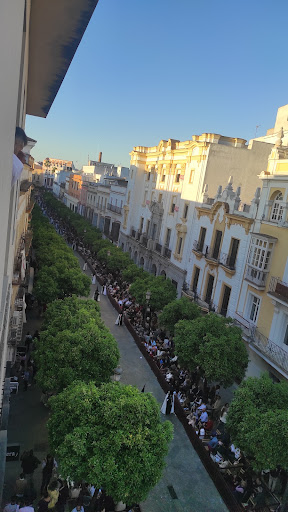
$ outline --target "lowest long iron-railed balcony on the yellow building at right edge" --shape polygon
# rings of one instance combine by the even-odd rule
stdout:
[[[244,338],[249,345],[261,352],[265,358],[273,365],[278,366],[282,371],[288,374],[288,347],[284,349],[274,341],[262,334],[258,327],[251,324],[239,313],[235,314],[234,324],[241,328]]]

